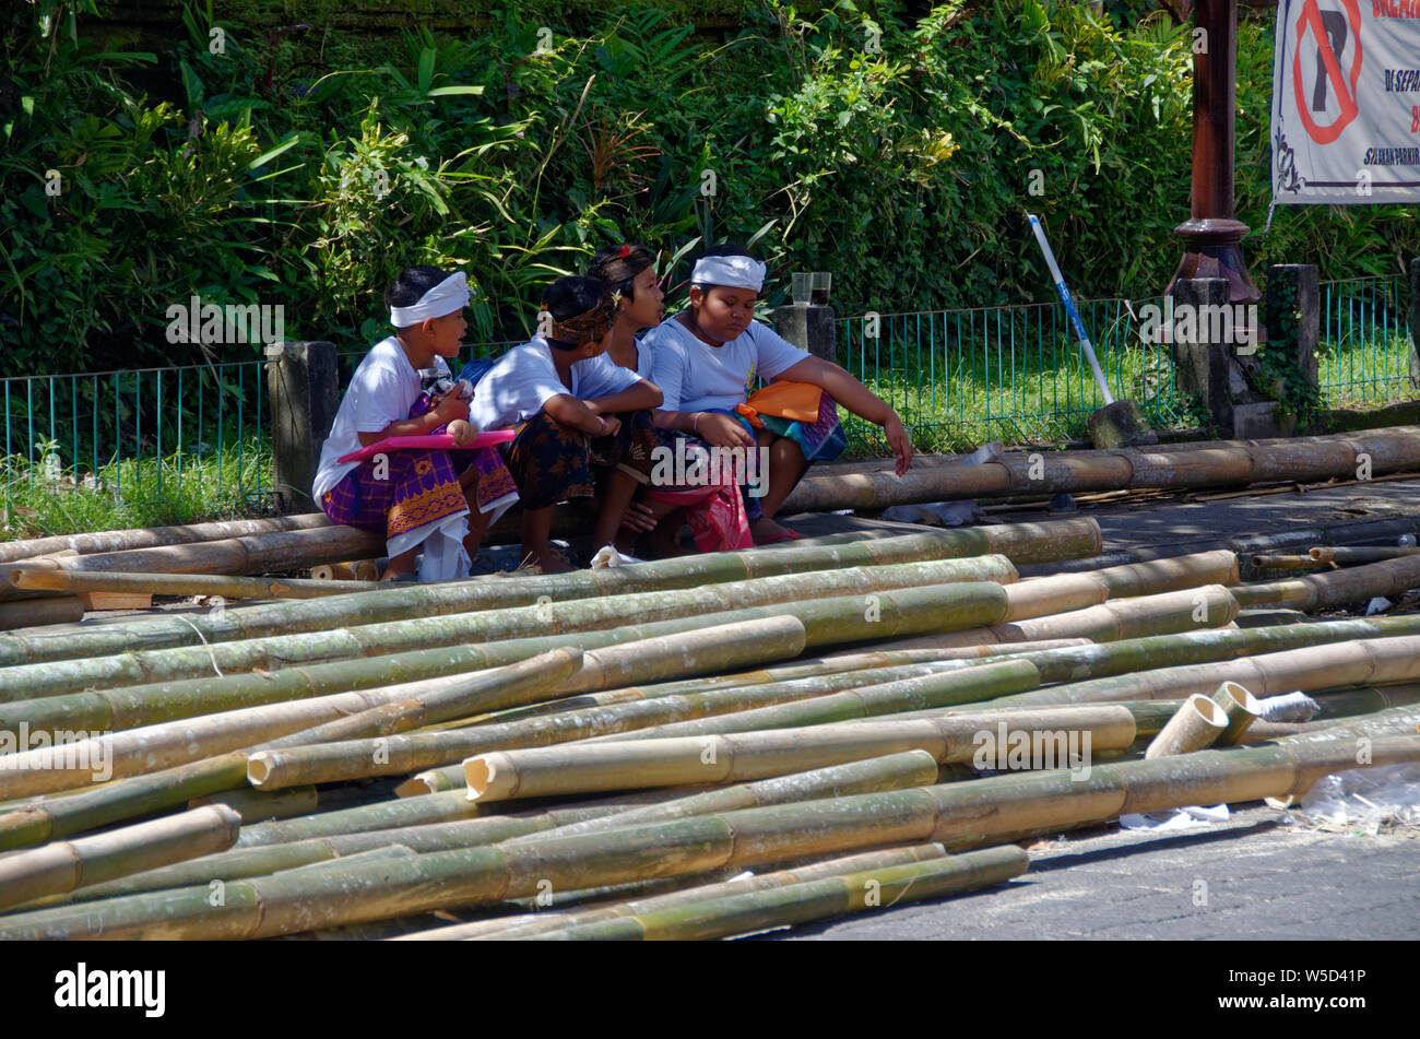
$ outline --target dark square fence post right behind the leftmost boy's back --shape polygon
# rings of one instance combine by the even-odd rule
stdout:
[[[341,403],[335,343],[278,342],[266,356],[274,484],[285,511],[317,511],[311,483]]]

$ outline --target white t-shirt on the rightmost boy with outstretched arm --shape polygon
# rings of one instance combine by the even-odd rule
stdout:
[[[673,317],[646,334],[642,355],[652,355],[650,380],[660,387],[666,412],[733,412],[750,395],[755,376],[774,379],[809,356],[772,328],[751,321],[720,346],[701,342]]]

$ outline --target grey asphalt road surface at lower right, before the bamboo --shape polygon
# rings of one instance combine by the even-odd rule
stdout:
[[[822,940],[1413,940],[1420,832],[1346,836],[1262,805],[1179,832],[1038,842],[998,887],[772,937]],[[767,935],[768,937],[768,935]]]

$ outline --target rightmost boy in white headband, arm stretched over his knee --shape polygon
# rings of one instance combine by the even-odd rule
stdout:
[[[716,246],[690,275],[690,307],[666,318],[645,339],[653,366],[650,380],[665,395],[656,424],[711,447],[768,449],[768,487],[747,498],[750,532],[757,544],[797,538],[774,514],[815,460],[842,450],[835,403],[882,426],[902,475],[912,466],[912,441],[893,409],[838,365],[798,349],[754,319],[765,267],[736,246]],[[737,409],[755,379],[818,386],[815,422],[744,417]]]

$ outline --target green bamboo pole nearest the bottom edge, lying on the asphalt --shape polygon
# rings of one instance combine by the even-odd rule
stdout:
[[[903,866],[883,866],[761,891],[721,894],[673,908],[527,935],[534,941],[706,941],[865,913],[1003,884],[1025,873],[1015,845]]]

